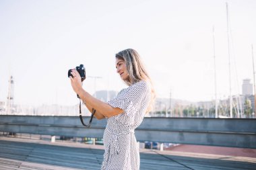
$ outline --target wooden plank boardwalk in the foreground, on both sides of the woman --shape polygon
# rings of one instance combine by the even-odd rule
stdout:
[[[100,169],[98,145],[0,136],[0,169]],[[256,158],[141,149],[141,169],[256,169]]]

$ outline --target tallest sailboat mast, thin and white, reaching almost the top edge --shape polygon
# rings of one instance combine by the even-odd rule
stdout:
[[[228,27],[228,3],[226,3],[226,29],[227,29],[227,36],[228,36],[228,66],[229,66],[229,95],[230,95],[230,118],[233,118],[232,113],[232,91],[231,91],[231,64],[230,64],[230,38],[229,38],[229,27]]]

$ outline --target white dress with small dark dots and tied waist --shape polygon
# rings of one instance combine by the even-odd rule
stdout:
[[[134,130],[143,120],[150,95],[150,83],[139,81],[108,101],[113,108],[121,108],[124,112],[108,118],[103,136],[105,153],[102,170],[139,169],[139,147]]]

